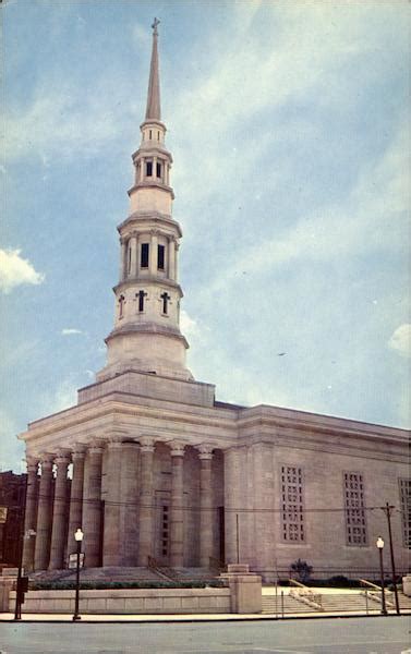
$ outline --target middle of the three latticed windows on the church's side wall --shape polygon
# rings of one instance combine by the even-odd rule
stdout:
[[[364,546],[367,544],[367,540],[362,474],[344,472],[343,483],[347,545]]]

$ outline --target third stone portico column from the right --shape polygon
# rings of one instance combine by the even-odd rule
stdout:
[[[138,532],[138,566],[147,566],[153,556],[154,536],[154,494],[153,464],[154,441],[148,438],[140,439],[140,532]]]

